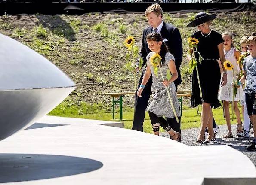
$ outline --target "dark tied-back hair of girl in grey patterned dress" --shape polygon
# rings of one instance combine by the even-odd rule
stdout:
[[[166,52],[169,52],[169,49],[167,48],[167,45],[163,42],[163,37],[159,33],[149,33],[146,37],[147,41],[154,41],[154,42],[160,42],[162,41],[161,49],[159,52],[160,57],[162,58],[161,66],[163,65],[165,61],[165,55]]]

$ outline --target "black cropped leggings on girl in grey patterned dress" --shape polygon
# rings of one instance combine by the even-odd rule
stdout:
[[[162,116],[158,117],[158,115],[150,111],[148,111],[148,115],[154,132],[159,131],[159,124],[165,131],[168,132],[171,130],[171,125]]]

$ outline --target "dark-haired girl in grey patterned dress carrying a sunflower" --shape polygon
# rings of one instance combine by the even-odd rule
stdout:
[[[142,91],[146,83],[148,82],[149,77],[152,74],[153,84],[152,84],[152,94],[153,97],[147,107],[148,114],[151,120],[153,132],[155,135],[159,135],[159,126],[163,127],[170,134],[170,138],[173,140],[179,140],[180,133],[175,132],[170,123],[168,123],[163,116],[169,118],[168,121],[174,121],[176,124],[176,118],[167,94],[167,89],[170,92],[170,96],[173,102],[175,112],[180,121],[180,110],[179,110],[179,101],[177,98],[176,87],[174,85],[174,80],[178,78],[178,73],[176,70],[174,57],[168,52],[167,46],[163,42],[163,38],[159,33],[150,33],[147,36],[148,47],[152,51],[147,56],[147,68],[143,76],[141,86],[137,91],[138,97],[142,97]],[[162,76],[160,75],[160,69],[158,70],[158,76],[154,73],[154,67],[150,63],[150,58],[154,54],[159,54],[161,59],[160,68],[162,70],[163,76],[167,76],[167,70],[170,70],[172,77],[168,81],[165,79],[163,81]],[[174,124],[175,124],[174,123]]]

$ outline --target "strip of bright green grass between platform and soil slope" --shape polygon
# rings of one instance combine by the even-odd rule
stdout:
[[[95,104],[89,106],[89,104],[83,104],[82,109],[79,109],[77,106],[72,105],[68,107],[68,103],[62,103],[56,109],[49,113],[49,115],[61,116],[61,117],[73,117],[73,118],[85,118],[85,119],[95,119],[95,120],[106,120],[106,121],[113,121],[112,120],[112,112],[102,112],[102,109],[106,109],[103,104]],[[110,107],[108,111],[111,111]],[[116,109],[115,118],[120,118],[119,110]],[[123,112],[123,121],[124,126],[127,129],[132,129],[133,126],[133,109],[125,109],[126,112]],[[96,114],[85,114],[89,112],[98,112]],[[231,108],[230,108],[231,113]],[[226,124],[225,118],[223,117],[223,109],[213,109],[213,115],[218,125]],[[234,115],[235,116],[235,115]],[[189,128],[198,128],[200,127],[200,115],[197,115],[197,109],[183,109],[182,110],[182,118],[181,118],[181,129],[189,129]],[[118,120],[115,120],[118,121]],[[234,121],[231,120],[231,124],[235,124],[237,119],[234,118]],[[151,122],[148,116],[148,112],[145,115],[145,121],[143,124],[144,132],[146,133],[153,133]],[[165,132],[163,128],[160,128],[160,132]]]

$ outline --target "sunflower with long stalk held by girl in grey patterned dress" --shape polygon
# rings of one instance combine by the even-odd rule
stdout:
[[[151,63],[152,66],[154,67],[154,73],[155,73],[156,76],[158,76],[158,70],[160,70],[160,74],[161,74],[161,76],[162,76],[163,81],[164,81],[165,79],[167,79],[167,80],[169,81],[169,80],[171,79],[171,77],[172,77],[171,72],[170,72],[169,69],[167,69],[167,75],[166,75],[166,78],[164,78],[163,72],[162,72],[162,69],[161,69],[161,63],[162,63],[161,59],[162,59],[162,58],[160,57],[159,54],[154,54],[154,55],[151,56],[151,58],[150,58],[150,63]],[[171,103],[171,106],[172,106],[173,113],[174,113],[174,115],[175,115],[176,121],[179,123],[179,119],[178,119],[178,116],[177,116],[176,111],[175,111],[175,109],[174,109],[173,101],[172,101],[172,99],[171,99],[171,95],[170,95],[169,89],[168,89],[167,86],[165,86],[165,88],[166,88],[166,91],[167,91],[167,94],[168,94],[168,97],[169,97],[169,100],[170,100],[170,103]]]

